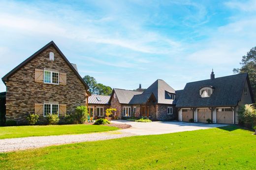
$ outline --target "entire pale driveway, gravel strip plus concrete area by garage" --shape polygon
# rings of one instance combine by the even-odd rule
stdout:
[[[111,122],[129,124],[132,127],[128,129],[120,129],[116,131],[91,134],[3,139],[0,140],[0,152],[24,150],[29,148],[37,148],[49,145],[59,145],[74,142],[101,141],[137,135],[157,135],[226,126],[225,124],[186,123],[175,121],[155,121],[143,123],[126,120],[112,120]]]

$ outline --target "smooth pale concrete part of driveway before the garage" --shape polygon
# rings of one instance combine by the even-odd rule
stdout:
[[[189,123],[178,121],[153,121],[145,123],[127,120],[112,120],[111,123],[129,124],[132,126],[131,128],[122,129],[120,131],[136,135],[158,135],[227,126],[227,124]]]

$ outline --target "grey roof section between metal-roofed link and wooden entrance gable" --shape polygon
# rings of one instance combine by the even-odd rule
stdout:
[[[122,103],[122,104],[129,104],[130,100],[132,99],[132,97],[134,95],[142,93],[142,91],[134,91],[134,90],[125,90],[125,89],[114,88],[113,92],[112,92],[112,95],[111,95],[111,98],[112,98],[114,92],[116,93],[116,96],[119,100],[119,103]]]

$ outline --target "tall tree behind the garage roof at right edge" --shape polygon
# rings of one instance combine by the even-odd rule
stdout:
[[[252,48],[246,56],[243,56],[240,62],[241,68],[234,68],[234,73],[248,73],[256,99],[256,47]]]

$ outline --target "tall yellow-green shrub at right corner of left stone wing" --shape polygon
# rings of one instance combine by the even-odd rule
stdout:
[[[88,110],[85,106],[75,108],[75,113],[72,115],[74,122],[83,124],[88,118]]]

